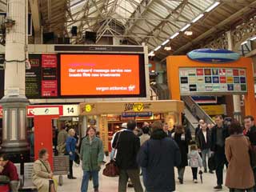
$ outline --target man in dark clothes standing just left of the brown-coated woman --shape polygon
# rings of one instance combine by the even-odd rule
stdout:
[[[215,117],[216,126],[211,130],[210,150],[214,153],[214,160],[216,164],[217,186],[215,190],[222,190],[223,184],[223,168],[224,164],[228,165],[225,156],[225,140],[229,137],[228,127],[224,125],[222,115]]]

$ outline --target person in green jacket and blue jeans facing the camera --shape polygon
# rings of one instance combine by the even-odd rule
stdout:
[[[98,171],[101,169],[104,151],[102,140],[96,137],[96,130],[90,126],[86,130],[86,138],[82,139],[82,186],[81,192],[87,192],[90,177],[93,179],[94,192],[98,192]]]

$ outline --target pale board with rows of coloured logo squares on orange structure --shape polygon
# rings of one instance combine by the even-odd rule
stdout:
[[[180,91],[182,95],[201,94],[245,94],[246,70],[240,68],[182,68],[180,69]],[[186,72],[187,71],[187,72]],[[191,71],[195,71],[195,75]],[[187,74],[187,75],[182,75]]]

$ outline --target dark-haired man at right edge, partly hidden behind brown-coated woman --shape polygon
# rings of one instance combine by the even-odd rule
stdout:
[[[254,125],[254,117],[247,115],[244,118],[245,128],[247,131],[246,136],[250,139],[250,144],[256,146],[256,126]],[[254,180],[256,182],[256,169],[254,169]],[[254,186],[256,192],[256,186]]]

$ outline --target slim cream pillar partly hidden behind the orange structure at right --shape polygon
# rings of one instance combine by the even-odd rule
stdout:
[[[228,50],[234,50],[231,31],[226,32],[227,42],[228,42]],[[233,95],[233,105],[234,105],[234,118],[238,120],[238,122],[242,122],[242,115],[241,115],[241,102],[240,102],[240,95],[234,94]]]

